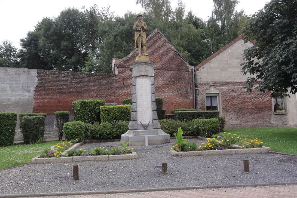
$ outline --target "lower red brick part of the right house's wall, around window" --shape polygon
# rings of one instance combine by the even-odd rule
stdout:
[[[226,116],[226,128],[275,126],[270,93],[247,92],[243,85],[244,82],[199,84],[196,89],[197,108],[205,110],[205,91],[215,86],[219,88],[220,112]]]

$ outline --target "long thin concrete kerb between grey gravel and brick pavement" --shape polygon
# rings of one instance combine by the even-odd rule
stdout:
[[[103,190],[103,191],[78,191],[78,192],[56,192],[56,193],[26,193],[26,194],[0,194],[0,198],[10,197],[48,197],[48,196],[68,196],[68,195],[91,195],[91,194],[116,194],[116,193],[133,193],[149,191],[173,191],[173,190],[191,190],[191,189],[216,189],[216,188],[236,188],[250,186],[278,186],[278,185],[297,185],[297,182],[279,182],[279,183],[250,183],[250,184],[229,184],[214,186],[181,186],[181,187],[161,187],[151,189],[127,189],[127,190]]]

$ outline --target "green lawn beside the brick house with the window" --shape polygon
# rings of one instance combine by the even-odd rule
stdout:
[[[270,147],[272,151],[297,154],[297,128],[226,129],[226,132],[235,133],[243,139],[257,137],[264,142],[263,146]]]

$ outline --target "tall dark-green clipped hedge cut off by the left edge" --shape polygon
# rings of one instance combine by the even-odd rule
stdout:
[[[0,112],[0,146],[13,145],[17,116],[15,112]]]

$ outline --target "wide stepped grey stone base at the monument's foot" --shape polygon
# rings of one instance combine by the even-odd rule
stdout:
[[[124,142],[130,141],[129,146],[144,146],[170,143],[170,135],[162,129],[128,130],[122,134]]]

